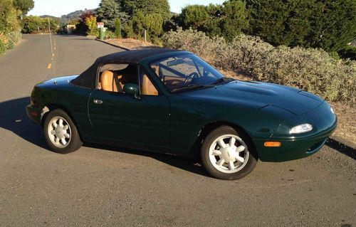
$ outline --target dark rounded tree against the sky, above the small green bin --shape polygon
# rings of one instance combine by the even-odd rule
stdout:
[[[115,20],[120,19],[125,23],[128,16],[122,11],[122,7],[115,0],[101,0],[99,8],[95,11],[98,21],[104,22],[109,29],[115,29]]]

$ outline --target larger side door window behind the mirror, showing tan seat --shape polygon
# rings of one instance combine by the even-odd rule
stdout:
[[[126,83],[138,85],[137,66],[130,64],[107,64],[99,70],[98,89],[113,93],[124,93]]]

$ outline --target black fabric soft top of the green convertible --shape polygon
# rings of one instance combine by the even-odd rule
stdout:
[[[98,67],[108,63],[139,63],[145,58],[150,58],[162,53],[175,52],[176,50],[165,48],[150,48],[139,49],[132,51],[122,51],[117,53],[111,53],[107,56],[103,56],[95,60],[95,63],[91,65],[87,70],[78,75],[77,78],[71,81],[73,85],[78,85],[84,88],[95,88],[95,77],[98,72]]]

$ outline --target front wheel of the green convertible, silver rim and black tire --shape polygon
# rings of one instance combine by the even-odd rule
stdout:
[[[241,179],[257,163],[257,155],[248,137],[229,126],[210,132],[201,146],[201,162],[218,179]]]

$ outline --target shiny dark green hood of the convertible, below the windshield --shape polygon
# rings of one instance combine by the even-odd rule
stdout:
[[[303,90],[272,83],[232,81],[212,88],[188,90],[180,95],[229,102],[260,109],[268,105],[283,108],[295,115],[313,110],[324,102],[320,97]]]

